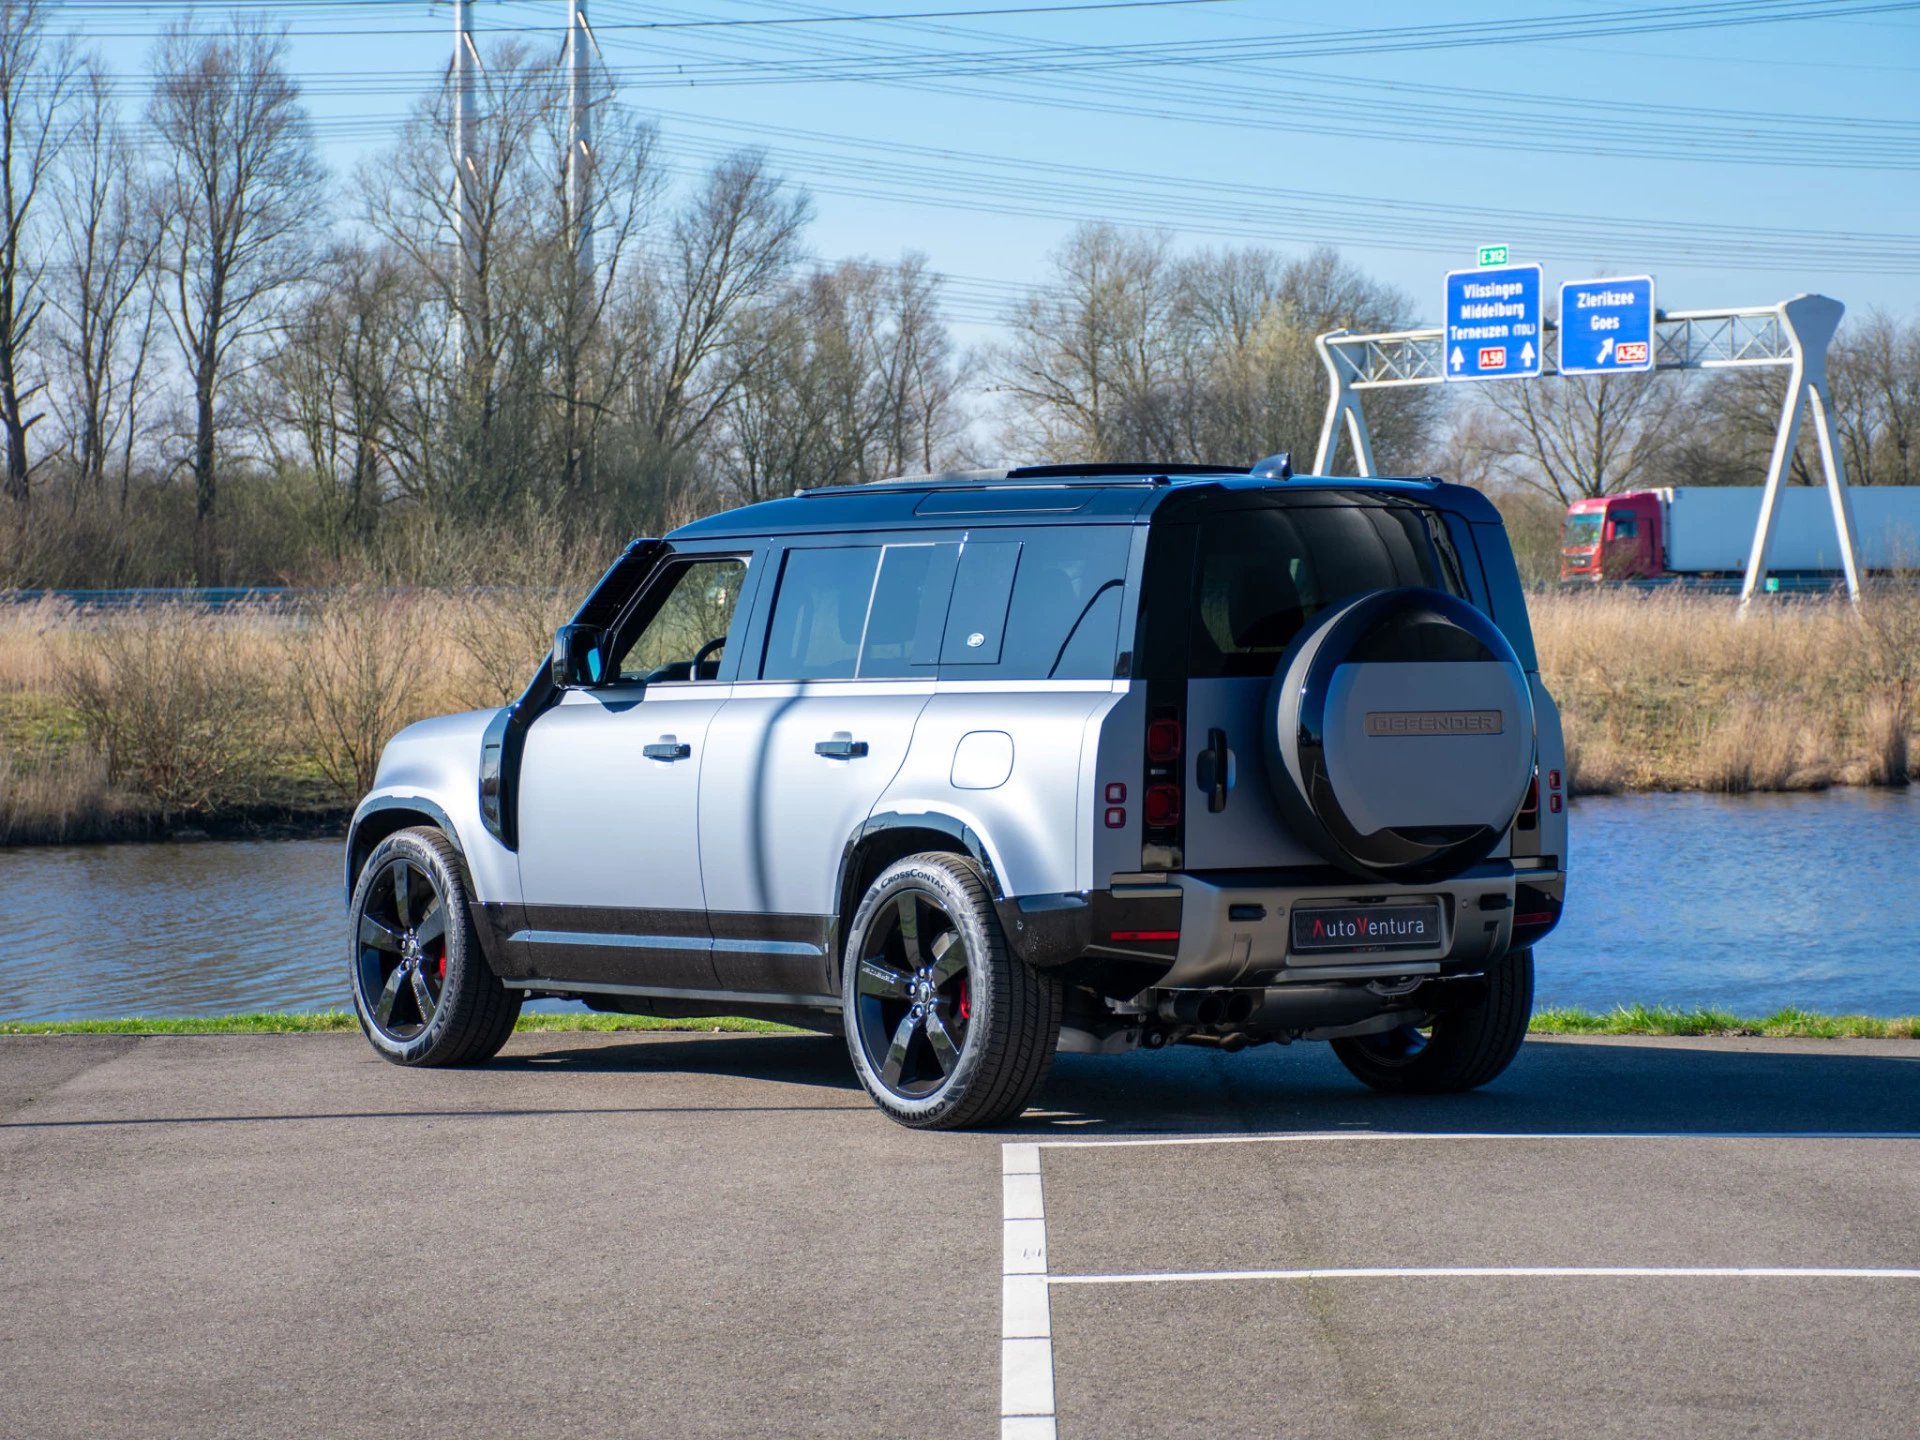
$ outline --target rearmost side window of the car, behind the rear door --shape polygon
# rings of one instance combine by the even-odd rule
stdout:
[[[1129,526],[983,532],[960,551],[948,680],[1112,680]]]

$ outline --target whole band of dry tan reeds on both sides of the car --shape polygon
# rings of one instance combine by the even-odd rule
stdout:
[[[574,576],[578,582],[578,576]],[[511,699],[584,584],[349,584],[300,612],[0,607],[0,843],[338,816],[401,726]],[[1920,595],[1542,593],[1574,793],[1907,783]]]

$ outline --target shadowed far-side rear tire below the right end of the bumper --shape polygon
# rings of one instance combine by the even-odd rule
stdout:
[[[1500,1075],[1526,1039],[1534,1014],[1534,952],[1515,950],[1486,972],[1486,1002],[1434,1016],[1425,1031],[1407,1025],[1384,1035],[1334,1041],[1357,1079],[1390,1094],[1475,1091]]]

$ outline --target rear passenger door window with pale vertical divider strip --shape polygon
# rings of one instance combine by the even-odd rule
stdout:
[[[954,543],[787,551],[760,680],[933,680]]]

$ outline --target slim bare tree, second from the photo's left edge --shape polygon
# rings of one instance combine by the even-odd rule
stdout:
[[[98,499],[119,453],[119,509],[127,509],[138,403],[154,334],[150,284],[159,225],[140,194],[142,177],[113,106],[111,79],[88,63],[81,115],[56,186],[60,263],[52,286],[61,328],[63,376],[56,407],[67,432],[75,480]]]

